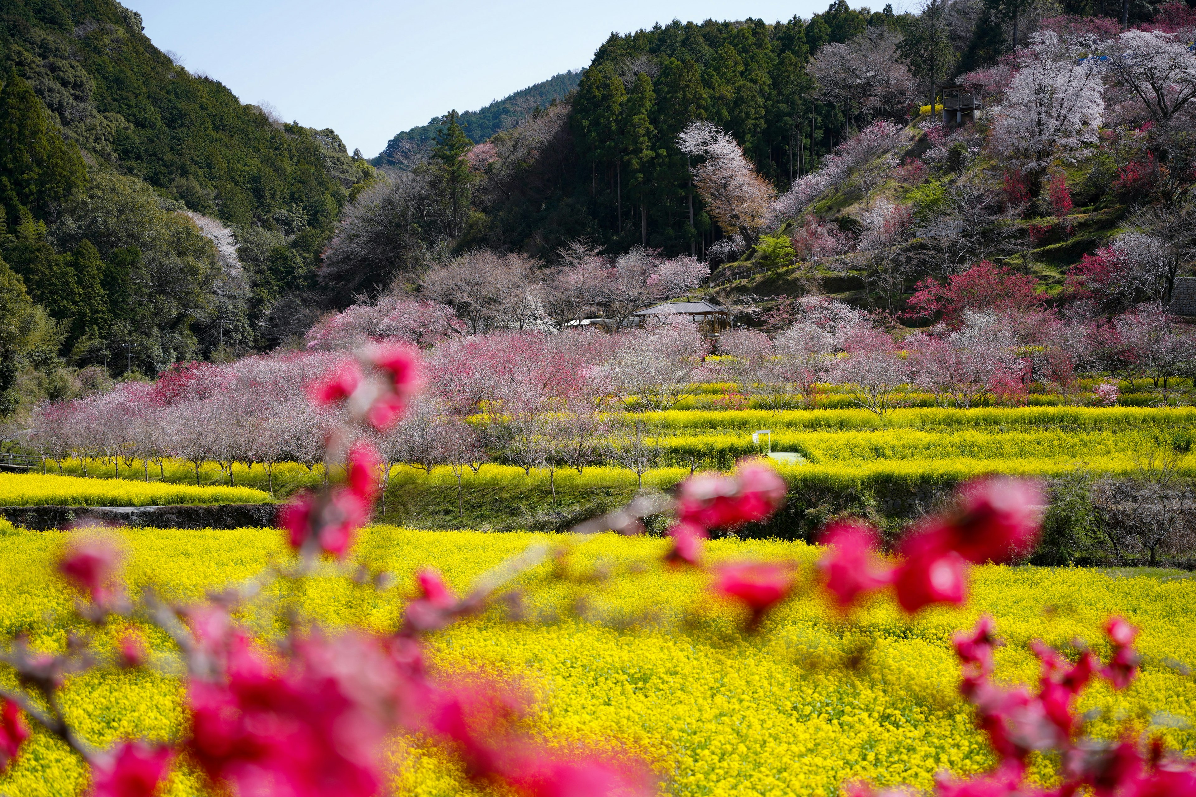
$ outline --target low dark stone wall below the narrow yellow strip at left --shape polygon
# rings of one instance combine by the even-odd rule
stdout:
[[[73,526],[242,528],[274,526],[277,504],[177,504],[170,507],[0,507],[16,526],[45,532]]]

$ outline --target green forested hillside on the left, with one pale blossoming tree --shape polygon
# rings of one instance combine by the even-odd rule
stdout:
[[[288,333],[360,154],[176,66],[112,0],[0,2],[0,74],[7,405],[22,373],[55,394],[60,363],[152,374]]]

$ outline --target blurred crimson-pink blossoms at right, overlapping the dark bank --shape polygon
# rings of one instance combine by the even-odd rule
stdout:
[[[896,565],[877,556],[872,527],[862,521],[834,523],[822,540],[830,547],[819,563],[823,581],[843,609],[887,587],[910,613],[932,603],[963,603],[968,564],[1007,562],[1027,552],[1037,539],[1044,502],[1032,482],[1005,477],[971,482],[960,489],[954,510],[910,531]]]

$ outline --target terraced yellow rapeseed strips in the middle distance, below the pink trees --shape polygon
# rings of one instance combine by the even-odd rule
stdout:
[[[691,466],[727,470],[743,456],[764,453],[764,446],[770,443],[774,452],[799,453],[805,460],[801,467],[785,468],[791,488],[816,483],[854,489],[865,483],[956,480],[980,473],[1050,477],[1078,467],[1099,473],[1131,472],[1136,468],[1135,456],[1158,447],[1188,450],[1196,407],[914,407],[896,410],[884,418],[859,409],[779,413],[670,410],[647,412],[645,417],[659,428],[652,440],[660,446],[663,466],[647,473],[645,484],[667,488],[688,476]],[[751,435],[757,429],[770,429],[770,441],[762,436],[758,445],[753,443]],[[51,470],[60,466],[65,473],[77,476],[117,476],[114,461],[68,459],[49,465]],[[153,483],[189,485],[196,478],[194,466],[179,460],[152,464],[148,471],[142,466],[140,461],[126,466],[120,477],[129,485],[144,485],[145,473]],[[1183,467],[1191,473],[1196,471],[1196,461],[1189,459]],[[228,472],[215,462],[205,464],[199,471],[205,485],[228,482]],[[232,477],[237,484],[260,490],[271,485],[261,464],[237,462]],[[581,474],[562,468],[556,471],[555,479],[559,486],[580,490],[622,489],[636,483],[634,473],[617,467],[587,467]],[[319,465],[312,470],[295,462],[273,467],[273,488],[280,496],[322,482]],[[397,465],[391,483],[456,485],[457,479],[447,466],[434,468],[429,477]],[[486,462],[477,474],[464,473],[465,490],[495,485],[538,485],[548,490],[549,473],[532,468],[529,474],[499,462]],[[200,501],[225,499],[248,498]]]

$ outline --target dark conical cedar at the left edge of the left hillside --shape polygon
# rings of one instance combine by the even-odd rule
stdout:
[[[30,85],[10,72],[0,90],[0,203],[8,225],[19,223],[22,208],[53,217],[86,179],[78,147],[62,140]]]

